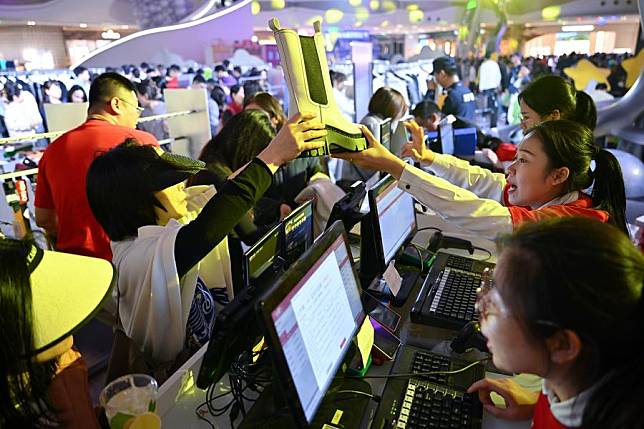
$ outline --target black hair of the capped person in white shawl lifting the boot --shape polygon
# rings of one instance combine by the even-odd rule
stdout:
[[[132,138],[94,159],[87,171],[87,200],[110,240],[136,237],[140,227],[156,225],[154,208],[163,205],[145,174],[167,168],[165,164],[153,146]]]

